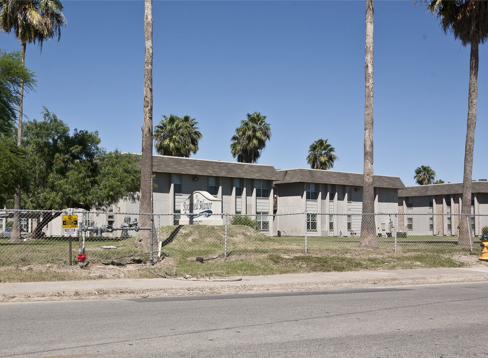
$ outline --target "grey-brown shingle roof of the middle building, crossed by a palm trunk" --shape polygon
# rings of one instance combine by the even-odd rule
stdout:
[[[318,169],[279,170],[282,179],[277,183],[312,182],[324,184],[363,186],[363,175],[359,173],[332,172]],[[403,189],[405,185],[398,177],[374,176],[375,187]]]

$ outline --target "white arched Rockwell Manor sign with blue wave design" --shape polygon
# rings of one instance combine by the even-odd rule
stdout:
[[[180,225],[223,225],[222,200],[206,191],[194,191],[181,203]]]

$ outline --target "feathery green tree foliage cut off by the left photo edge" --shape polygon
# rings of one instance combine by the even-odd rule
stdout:
[[[34,74],[23,66],[20,52],[0,50],[0,207],[27,182],[25,151],[15,141],[21,83],[32,89],[36,83]]]

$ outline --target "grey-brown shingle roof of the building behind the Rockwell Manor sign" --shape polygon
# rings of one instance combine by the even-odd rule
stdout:
[[[271,165],[168,156],[153,156],[153,172],[266,180],[281,178]]]

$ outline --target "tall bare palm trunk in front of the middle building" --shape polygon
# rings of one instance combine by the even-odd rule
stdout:
[[[361,247],[378,247],[375,223],[373,183],[373,0],[366,1],[365,103],[364,103],[364,171],[363,216],[361,218]],[[373,214],[373,215],[365,215]]]

